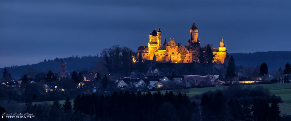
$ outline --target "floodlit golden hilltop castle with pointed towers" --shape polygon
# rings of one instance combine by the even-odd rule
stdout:
[[[142,54],[143,60],[154,60],[159,63],[199,63],[200,39],[198,39],[198,28],[195,22],[190,28],[188,45],[181,45],[175,42],[173,38],[170,38],[168,42],[165,40],[161,47],[161,36],[161,29],[159,28],[158,31],[154,29],[150,33],[148,46],[139,46],[137,56],[139,57],[139,54]],[[183,62],[181,51],[179,51],[182,46],[188,50]],[[221,39],[219,48],[212,48],[211,50],[214,55],[213,63],[223,64],[227,59],[227,51],[223,39]]]

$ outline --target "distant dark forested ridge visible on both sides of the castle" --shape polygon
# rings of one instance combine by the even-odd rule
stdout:
[[[259,66],[262,62],[266,62],[269,68],[269,72],[272,70],[277,70],[279,67],[284,68],[286,62],[291,62],[291,51],[268,51],[268,52],[254,52],[254,53],[229,53],[229,56],[233,56],[235,59],[235,64],[237,66]],[[81,69],[95,69],[97,61],[102,59],[97,56],[84,56],[84,57],[68,57],[65,58],[67,63],[68,71],[72,72],[74,70]],[[8,67],[9,73],[14,78],[20,78],[29,68],[39,71],[49,71],[58,72],[58,67],[60,66],[61,59],[54,59],[48,62],[39,62],[37,64],[23,65]],[[0,69],[0,77],[2,77],[3,68]]]

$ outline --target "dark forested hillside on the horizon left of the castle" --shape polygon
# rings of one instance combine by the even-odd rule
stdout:
[[[67,71],[72,72],[81,69],[95,69],[97,61],[100,57],[97,56],[84,56],[84,57],[68,57],[64,58]],[[39,62],[37,64],[23,65],[23,66],[13,66],[7,67],[8,72],[13,78],[19,79],[29,68],[35,69],[36,72],[49,71],[58,72],[59,66],[61,64],[61,59],[49,60],[47,62]],[[0,69],[0,77],[3,75],[3,68]]]

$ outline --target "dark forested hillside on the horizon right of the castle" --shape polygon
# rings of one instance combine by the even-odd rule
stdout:
[[[291,62],[291,51],[268,51],[254,53],[229,53],[233,56],[235,65],[260,66],[266,62],[269,72],[277,70],[279,67],[284,68],[287,62]]]

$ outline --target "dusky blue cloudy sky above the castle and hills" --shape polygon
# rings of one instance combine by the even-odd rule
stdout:
[[[113,45],[136,51],[153,29],[187,44],[195,19],[201,44],[228,52],[290,50],[290,0],[0,0],[0,67]]]

